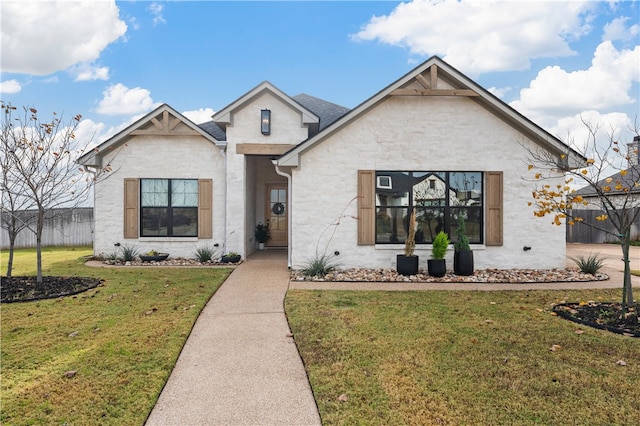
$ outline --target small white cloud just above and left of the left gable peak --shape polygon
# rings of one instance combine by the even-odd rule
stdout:
[[[151,98],[147,89],[135,87],[129,89],[118,83],[109,86],[103,92],[103,98],[98,103],[97,112],[106,115],[139,114],[148,112],[158,106]]]

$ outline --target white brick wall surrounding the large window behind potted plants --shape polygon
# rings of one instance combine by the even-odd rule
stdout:
[[[462,97],[393,97],[300,157],[293,173],[293,267],[315,256],[316,243],[357,195],[358,170],[502,171],[504,245],[474,249],[476,268],[552,268],[565,265],[565,230],[537,219],[527,202],[523,135]],[[532,146],[531,143],[528,143]],[[346,211],[357,216],[356,202]],[[338,251],[341,267],[395,268],[404,245],[357,245],[357,222],[340,220],[321,250]],[[525,251],[523,247],[531,247]],[[426,269],[431,246],[416,247]],[[452,267],[453,250],[447,259]]]

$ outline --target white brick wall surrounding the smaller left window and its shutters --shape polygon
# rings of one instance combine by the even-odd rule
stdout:
[[[115,243],[135,246],[141,253],[167,252],[172,257],[193,258],[197,247],[224,244],[225,165],[220,149],[198,136],[135,136],[126,145],[105,155],[105,163],[114,155],[114,171],[95,188],[94,252],[109,254]],[[213,238],[146,237],[125,239],[124,179],[212,179]]]

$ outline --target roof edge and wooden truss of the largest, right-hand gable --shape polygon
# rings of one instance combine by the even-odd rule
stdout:
[[[425,77],[425,73],[429,73],[430,78]],[[439,89],[437,87],[438,80],[442,80],[453,89]],[[284,153],[278,159],[278,164],[281,166],[297,167],[300,161],[299,157],[302,153],[316,144],[321,143],[324,139],[393,95],[469,96],[485,109],[491,111],[514,128],[517,128],[541,147],[554,154],[567,155],[569,167],[577,167],[586,161],[578,152],[489,93],[460,71],[439,57],[432,56],[423,64],[417,66],[400,79],[355,107],[349,113],[340,117],[317,135],[310,137],[295,148]]]

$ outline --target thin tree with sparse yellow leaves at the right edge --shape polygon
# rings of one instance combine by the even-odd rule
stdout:
[[[582,223],[584,225],[609,233],[612,238],[620,242],[624,262],[624,282],[622,291],[622,315],[629,312],[634,304],[633,288],[631,286],[631,270],[629,268],[629,246],[631,227],[640,216],[640,166],[637,163],[638,145],[630,144],[627,149],[615,137],[615,130],[611,129],[604,140],[600,138],[601,126],[593,125],[583,120],[587,129],[587,141],[577,147],[571,143],[571,148],[584,157],[583,167],[568,167],[570,152],[559,157],[549,152],[529,150],[529,170],[533,170],[537,181],[533,191],[535,207],[534,214],[538,217],[552,216],[552,223],[569,225]],[[632,130],[638,141],[638,125]],[[634,162],[635,161],[635,162]],[[547,180],[557,176],[558,172],[565,175],[564,184],[550,185]],[[576,185],[589,189],[597,202],[590,202],[582,195],[583,190],[577,191]],[[581,212],[592,206],[602,210],[592,223],[587,222]],[[615,231],[603,227],[604,222],[610,222]]]

